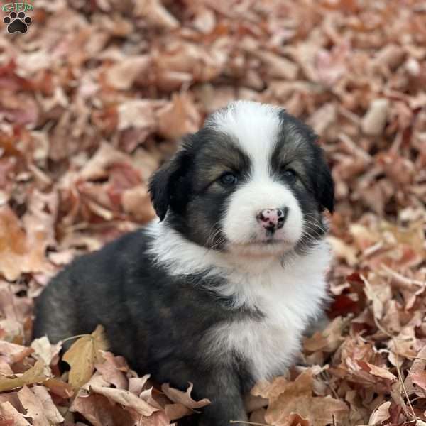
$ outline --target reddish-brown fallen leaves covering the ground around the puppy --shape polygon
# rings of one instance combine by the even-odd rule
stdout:
[[[209,403],[138,377],[102,329],[61,376],[32,305],[74,256],[154,217],[148,175],[231,99],[307,120],[337,194],[332,322],[304,366],[256,385],[251,422],[424,425],[424,2],[33,5],[28,33],[0,36],[0,425],[168,425]]]

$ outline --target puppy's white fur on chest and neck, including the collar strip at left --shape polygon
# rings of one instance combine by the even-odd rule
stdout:
[[[230,359],[239,354],[255,380],[285,371],[300,349],[302,333],[319,317],[327,299],[324,272],[330,252],[325,241],[284,265],[278,259],[231,262],[229,254],[209,251],[186,241],[171,229],[151,228],[157,237],[151,253],[172,275],[209,270],[224,285],[217,292],[232,297],[234,307],[250,307],[261,320],[224,322],[204,338],[207,356]],[[167,233],[158,238],[159,233]]]

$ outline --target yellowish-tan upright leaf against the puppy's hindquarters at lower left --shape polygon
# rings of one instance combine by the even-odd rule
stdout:
[[[81,388],[89,381],[94,371],[94,364],[104,361],[102,353],[107,350],[107,339],[104,336],[104,327],[98,325],[92,334],[80,337],[68,349],[63,361],[70,364],[68,382],[73,388]]]

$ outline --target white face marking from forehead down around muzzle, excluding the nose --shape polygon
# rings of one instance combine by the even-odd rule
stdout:
[[[293,192],[271,175],[271,158],[280,133],[280,108],[250,101],[237,101],[217,111],[207,120],[235,141],[251,160],[250,178],[228,200],[222,227],[232,244],[262,239],[265,229],[258,225],[258,212],[268,208],[288,208],[283,229],[275,237],[289,249],[302,236],[302,211]],[[269,250],[269,249],[268,249]]]

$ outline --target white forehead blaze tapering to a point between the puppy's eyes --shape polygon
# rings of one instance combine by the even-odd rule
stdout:
[[[229,134],[249,155],[255,175],[268,175],[269,161],[280,131],[279,107],[236,101],[212,114],[207,126]]]

